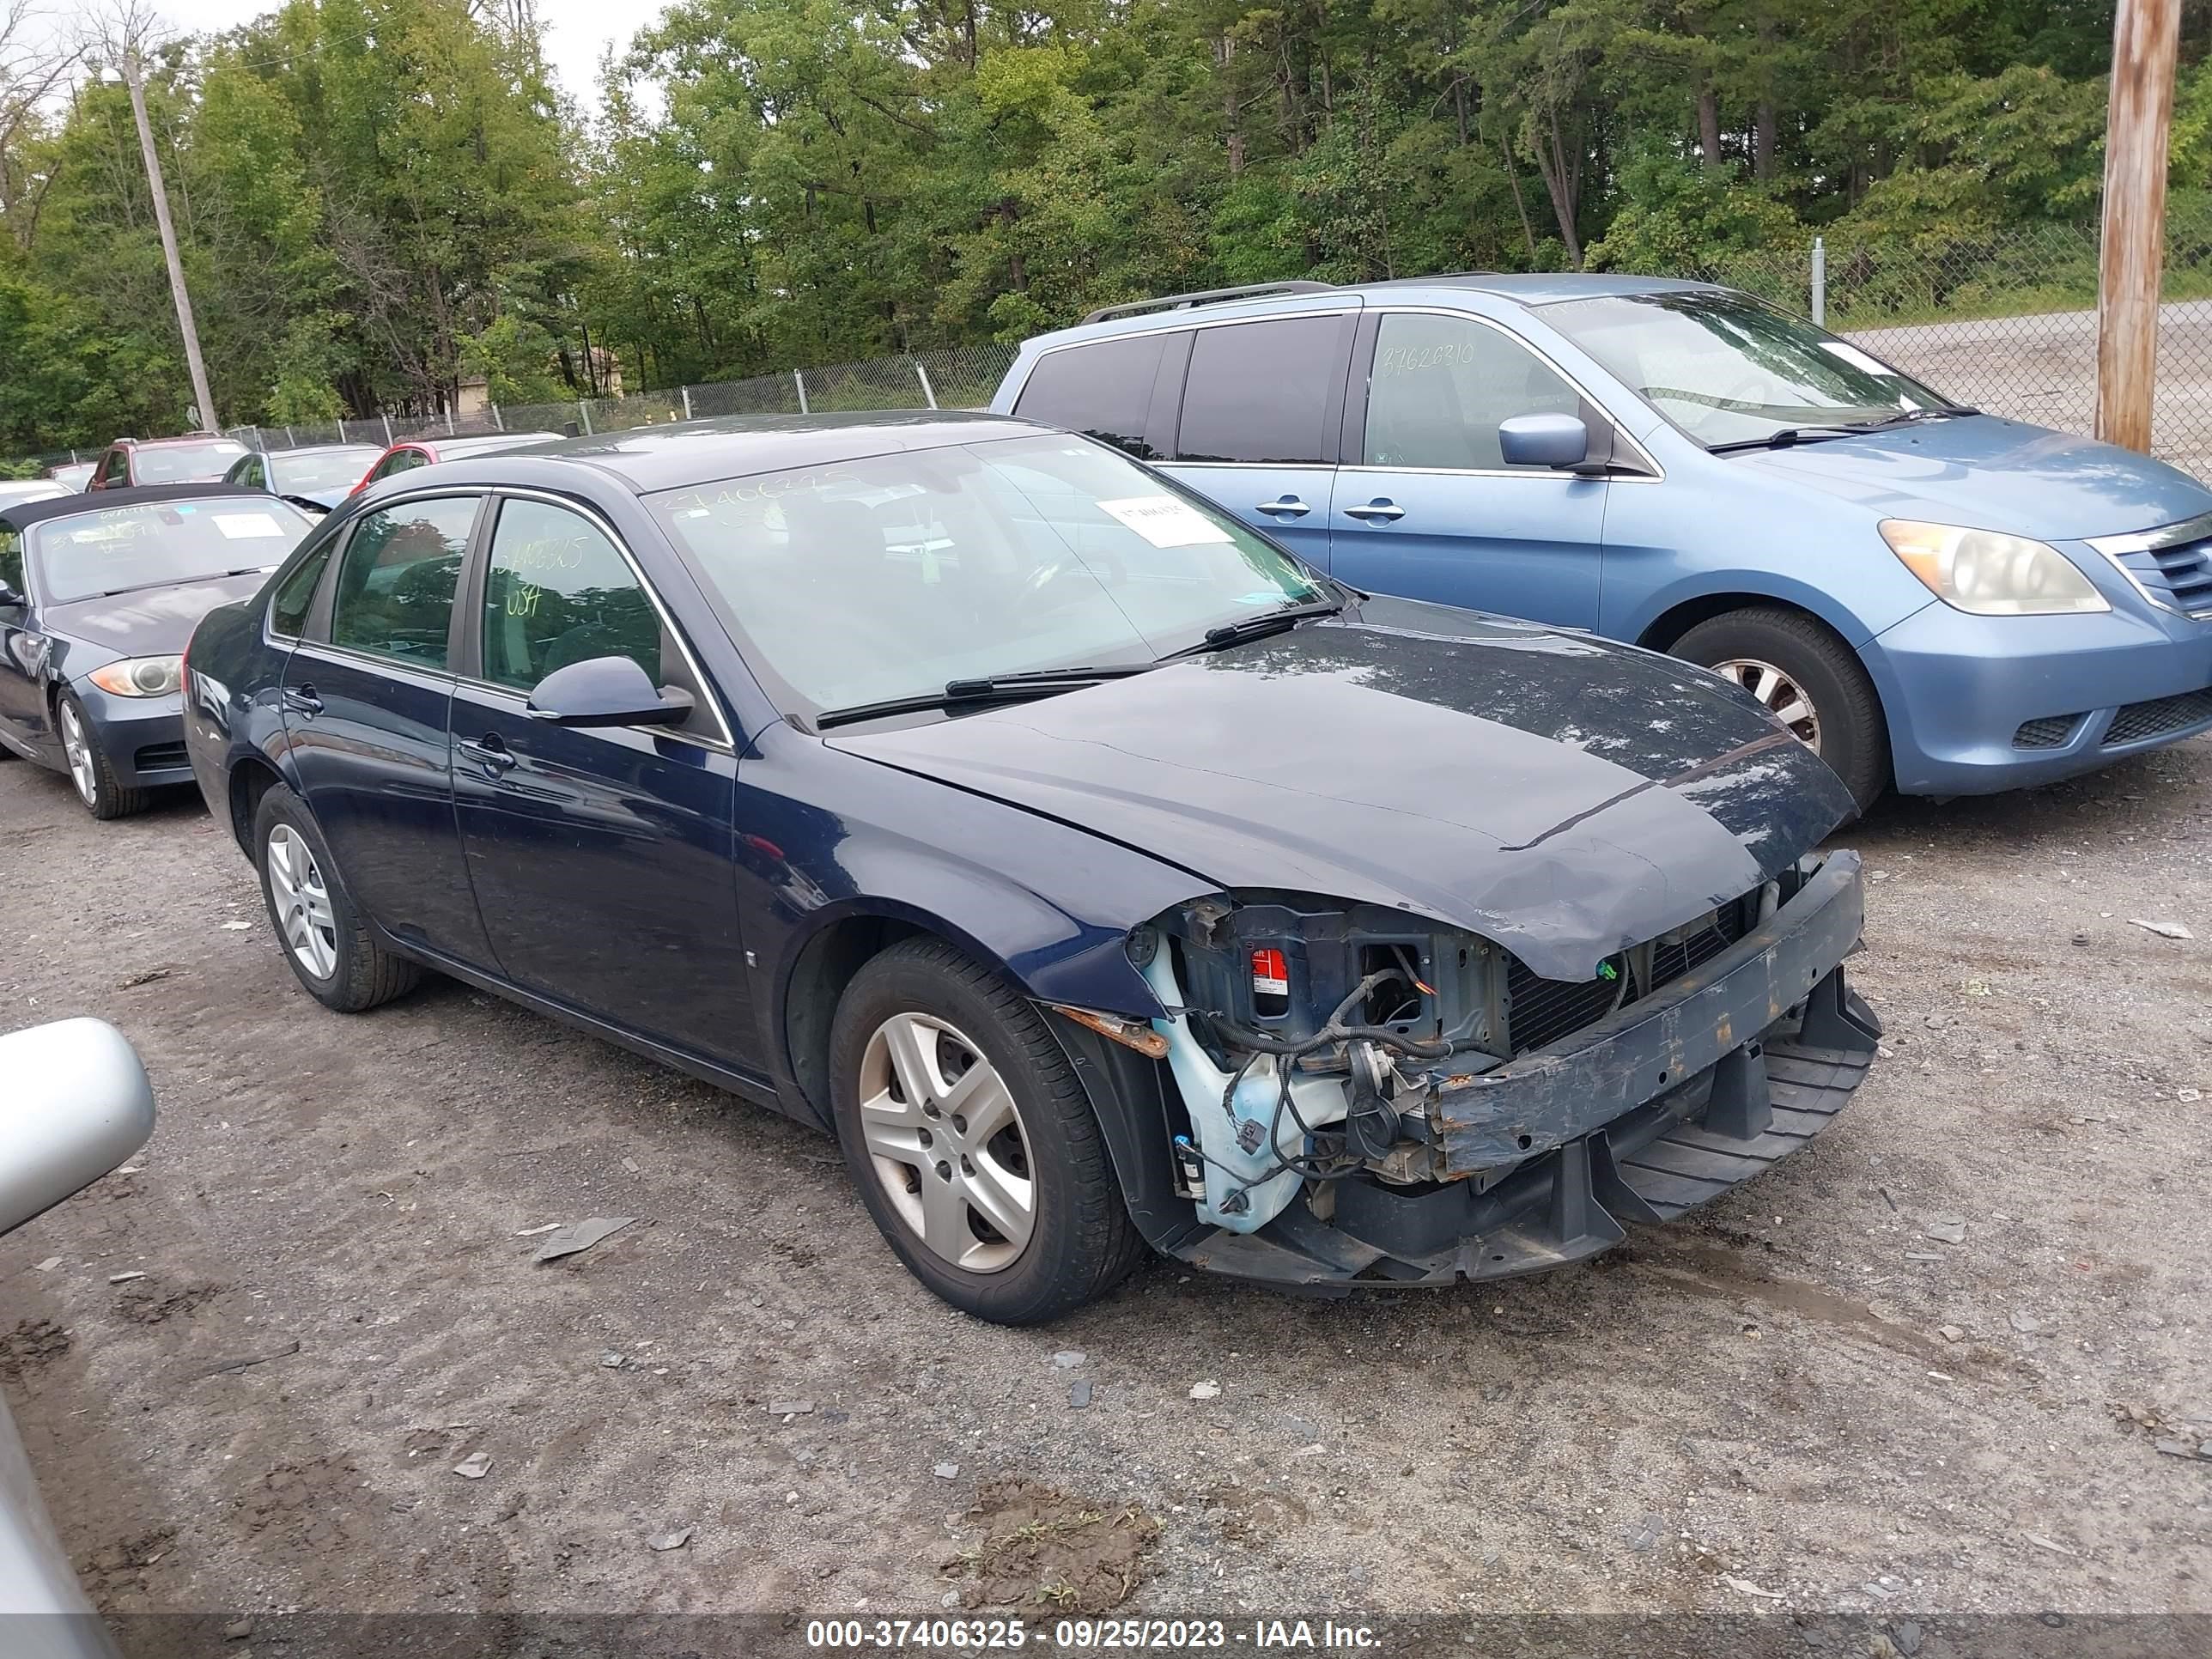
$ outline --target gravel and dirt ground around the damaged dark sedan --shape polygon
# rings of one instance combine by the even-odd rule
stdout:
[[[2157,1440],[2212,1433],[2208,830],[2208,741],[1880,807],[1885,1064],[1586,1267],[1155,1263],[1006,1332],[825,1139],[449,982],[325,1013],[197,801],[4,763],[0,1024],[113,1020],[161,1126],[0,1241],[0,1374],[117,1613],[2203,1613],[2212,1460]],[[588,1214],[637,1221],[531,1263]]]

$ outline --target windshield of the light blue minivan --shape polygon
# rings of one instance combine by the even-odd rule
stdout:
[[[1544,321],[1708,449],[1951,407],[1849,341],[1745,294],[1573,299],[1546,305]]]

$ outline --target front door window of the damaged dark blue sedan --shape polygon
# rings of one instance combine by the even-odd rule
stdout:
[[[661,619],[630,562],[586,518],[509,500],[484,573],[484,679],[529,690],[555,668],[628,657],[659,686]]]

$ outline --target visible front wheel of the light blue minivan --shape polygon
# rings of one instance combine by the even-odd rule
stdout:
[[[1710,617],[1674,655],[1725,675],[1843,779],[1860,812],[1889,787],[1882,701],[1858,653],[1801,611],[1752,606]]]

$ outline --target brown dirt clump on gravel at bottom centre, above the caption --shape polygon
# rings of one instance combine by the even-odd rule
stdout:
[[[1104,1613],[1148,1577],[1159,1522],[1135,1504],[1086,1504],[1033,1480],[989,1480],[969,1522],[982,1544],[945,1564],[969,1608]]]

